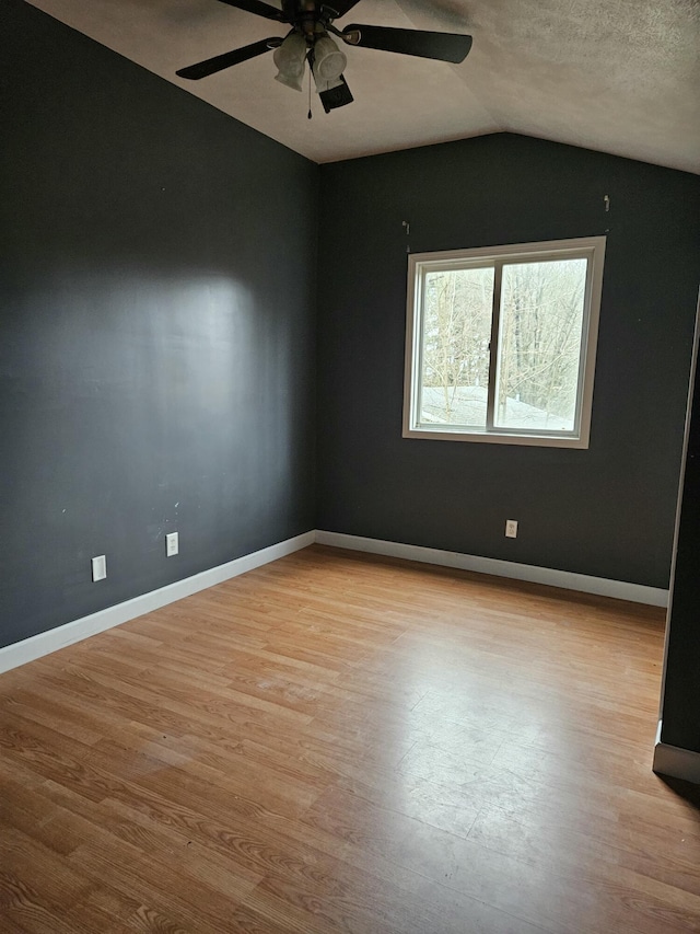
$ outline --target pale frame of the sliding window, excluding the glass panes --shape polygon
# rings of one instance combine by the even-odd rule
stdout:
[[[439,441],[480,441],[499,445],[539,445],[555,448],[587,448],[591,437],[591,411],[595,355],[603,289],[605,237],[581,237],[572,240],[548,240],[540,243],[516,243],[470,250],[448,250],[440,253],[415,253],[408,257],[408,292],[406,315],[406,362],[404,377],[405,438]],[[551,260],[587,260],[583,300],[581,358],[574,427],[571,431],[501,428],[493,425],[495,407],[497,362],[499,354],[499,316],[501,309],[501,277],[504,265],[518,262]],[[489,362],[487,427],[460,425],[439,427],[418,418],[421,397],[423,353],[423,282],[428,273],[441,269],[472,269],[493,266],[493,304]]]

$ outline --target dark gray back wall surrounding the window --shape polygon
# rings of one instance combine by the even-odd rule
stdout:
[[[318,528],[667,587],[699,208],[696,176],[508,134],[322,166]],[[412,252],[607,233],[588,450],[401,438],[404,220]]]

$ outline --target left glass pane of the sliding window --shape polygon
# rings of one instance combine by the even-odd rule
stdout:
[[[492,267],[425,274],[420,424],[486,427],[492,302]]]

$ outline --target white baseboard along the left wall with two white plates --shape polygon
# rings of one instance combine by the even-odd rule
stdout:
[[[183,597],[206,590],[208,587],[213,587],[214,584],[222,584],[224,580],[245,574],[246,570],[253,570],[255,567],[260,567],[271,561],[284,557],[284,555],[292,554],[292,552],[300,551],[300,549],[305,549],[314,543],[315,538],[314,531],[304,532],[302,535],[287,539],[276,545],[253,552],[253,554],[237,557],[209,570],[202,570],[201,574],[195,574],[184,580],[176,580],[174,584],[143,593],[141,597],[117,603],[116,607],[108,607],[106,610],[100,610],[90,616],[83,616],[72,623],[56,626],[48,632],[38,633],[38,635],[0,648],[0,673],[25,665],[27,661],[34,661],[36,658],[49,655],[49,653],[57,652],[59,648],[65,648],[75,642],[81,642],[81,639],[95,635],[95,633],[119,626],[121,623],[142,616],[143,613],[150,613],[168,603],[174,603],[176,600],[182,600]]]

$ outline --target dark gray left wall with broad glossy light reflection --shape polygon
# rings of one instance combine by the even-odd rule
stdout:
[[[314,527],[318,170],[20,0],[0,125],[5,645]]]

